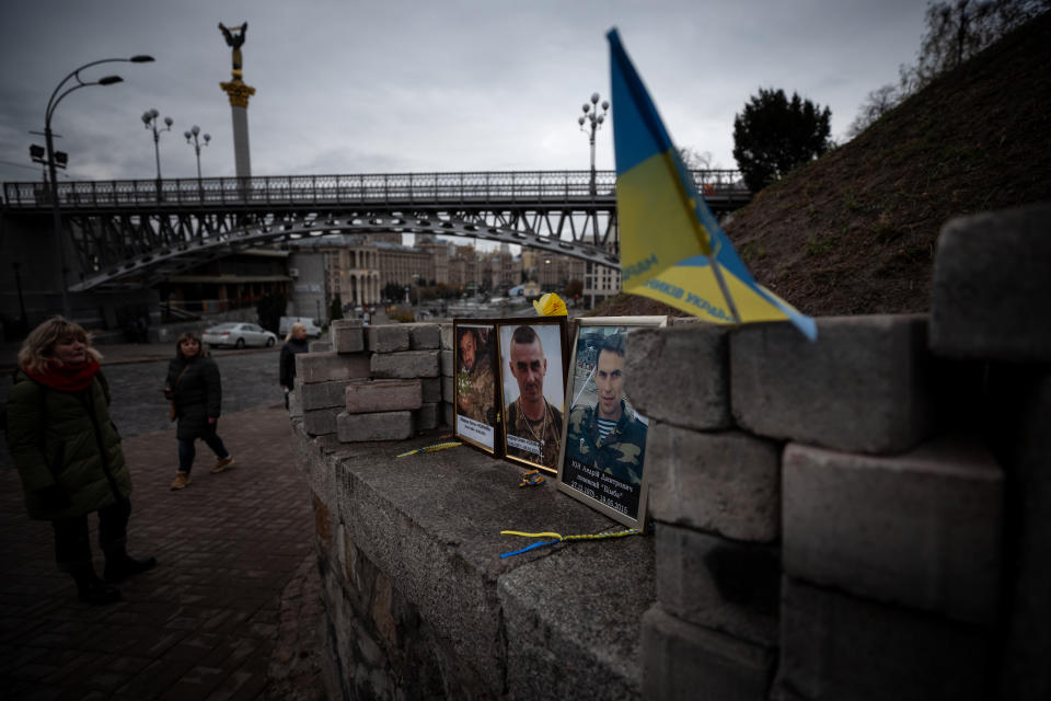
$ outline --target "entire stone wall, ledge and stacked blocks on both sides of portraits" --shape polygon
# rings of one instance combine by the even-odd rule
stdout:
[[[451,425],[450,326],[300,356],[336,386],[292,404],[331,698],[1051,698],[1048,222],[947,223],[929,314],[634,332],[652,529],[615,544],[501,560],[611,522],[477,451],[393,457],[434,434],[340,443],[319,403],[380,378],[380,427]]]

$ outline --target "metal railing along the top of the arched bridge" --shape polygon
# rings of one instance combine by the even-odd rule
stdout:
[[[693,171],[697,191],[708,198],[743,202],[751,193],[739,171]],[[163,206],[452,205],[486,203],[610,202],[616,173],[598,171],[492,171],[459,173],[377,173],[354,175],[264,175],[58,184],[58,202],[74,209]],[[51,206],[46,183],[3,184],[9,207]]]

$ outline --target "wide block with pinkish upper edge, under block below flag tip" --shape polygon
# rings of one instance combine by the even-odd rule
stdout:
[[[963,438],[871,457],[789,444],[784,567],[865,597],[992,623],[1003,472]]]

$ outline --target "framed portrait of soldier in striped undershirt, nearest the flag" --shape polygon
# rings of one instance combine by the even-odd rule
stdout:
[[[625,341],[667,317],[592,317],[575,321],[558,457],[558,491],[632,528],[646,519],[649,420],[624,394]]]

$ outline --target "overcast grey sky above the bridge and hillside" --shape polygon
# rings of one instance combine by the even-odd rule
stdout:
[[[164,177],[196,175],[182,133],[211,134],[207,176],[232,175],[230,48],[218,23],[249,23],[244,80],[252,172],[586,170],[580,105],[607,97],[616,26],[672,139],[736,168],[734,115],[763,88],[832,110],[842,137],[866,94],[915,59],[923,0],[4,0],[0,180],[39,177],[28,134],[48,97],[84,71],[124,82],[67,96],[51,128],[73,180],[152,179],[141,114],[161,136]],[[613,168],[609,126],[597,165]]]

